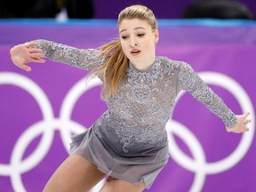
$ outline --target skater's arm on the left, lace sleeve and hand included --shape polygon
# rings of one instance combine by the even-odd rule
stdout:
[[[98,50],[78,49],[41,39],[14,46],[10,53],[13,63],[27,71],[31,70],[27,65],[28,62],[44,62],[44,57],[89,71],[102,64]]]

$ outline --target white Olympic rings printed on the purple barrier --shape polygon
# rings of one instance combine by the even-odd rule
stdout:
[[[243,134],[242,140],[233,153],[218,162],[207,163],[204,155],[204,149],[202,148],[200,141],[196,139],[196,136],[192,132],[189,132],[189,129],[183,124],[180,124],[171,118],[169,119],[166,124],[170,148],[169,153],[170,156],[172,156],[172,158],[182,167],[188,171],[195,172],[195,180],[189,190],[191,192],[200,191],[203,188],[207,174],[224,172],[236,165],[244,157],[252,145],[252,139],[254,136],[254,129],[252,129],[252,126],[255,124],[252,101],[244,91],[243,87],[237,84],[232,78],[219,73],[204,72],[199,73],[198,75],[204,79],[206,84],[218,85],[232,93],[241,106],[243,112],[251,111],[252,124],[248,125],[248,127],[251,128],[250,132]],[[29,126],[28,129],[20,135],[20,138],[16,140],[15,146],[12,150],[11,163],[0,164],[0,175],[10,176],[12,187],[15,191],[26,192],[26,188],[24,187],[21,179],[21,174],[32,170],[37,164],[40,164],[52,146],[55,131],[60,131],[64,148],[68,151],[71,132],[78,133],[87,129],[84,125],[78,124],[70,118],[72,109],[79,97],[84,94],[84,92],[87,92],[95,86],[100,86],[101,84],[100,79],[93,78],[88,81],[86,86],[84,86],[84,82],[87,78],[88,76],[85,76],[70,89],[62,102],[60,118],[54,118],[52,106],[47,95],[45,95],[44,91],[35,82],[26,76],[21,76],[16,73],[0,73],[0,84],[12,84],[30,93],[38,103],[43,114],[42,121],[36,122],[36,124],[31,124],[31,126]],[[230,87],[232,87],[232,89]],[[177,102],[180,100],[183,93],[184,92],[180,93]],[[28,148],[29,143],[41,134],[43,135],[42,140],[40,140],[40,143],[34,150],[34,153],[22,160],[22,156],[26,148]],[[180,151],[175,140],[173,140],[172,134],[178,135],[186,142],[193,157],[195,158],[194,160],[190,159]],[[105,180],[100,181],[100,184],[95,188],[92,188],[92,192],[98,191],[104,182]]]

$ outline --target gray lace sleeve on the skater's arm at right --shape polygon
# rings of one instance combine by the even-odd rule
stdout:
[[[228,128],[236,124],[235,114],[187,63],[180,65],[179,84],[181,89],[190,92],[196,100],[201,101],[214,114],[220,116]]]

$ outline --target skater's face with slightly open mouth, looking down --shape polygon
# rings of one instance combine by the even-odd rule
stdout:
[[[146,20],[122,20],[119,36],[126,57],[139,69],[147,69],[156,57],[158,30],[153,31]]]

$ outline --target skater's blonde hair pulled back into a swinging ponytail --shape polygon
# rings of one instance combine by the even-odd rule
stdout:
[[[153,31],[157,29],[154,13],[148,9],[148,7],[140,4],[126,7],[119,13],[117,28],[119,28],[122,20],[132,19],[146,20]],[[106,63],[103,66],[100,66],[100,68],[96,68],[94,72],[103,79],[101,96],[106,99],[116,93],[118,85],[126,74],[129,60],[124,55],[119,39],[100,46],[100,55],[103,55],[102,60],[106,60]]]

